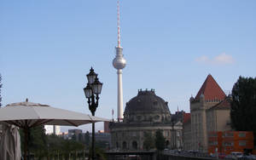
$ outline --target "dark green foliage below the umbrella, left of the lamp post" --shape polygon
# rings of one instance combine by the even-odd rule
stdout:
[[[64,140],[54,134],[44,134],[44,126],[38,126],[30,130],[30,153],[38,159],[70,159],[82,157],[81,153],[84,152],[84,144],[76,140]],[[20,129],[21,150],[23,151],[24,134]],[[83,154],[84,155],[84,154]]]

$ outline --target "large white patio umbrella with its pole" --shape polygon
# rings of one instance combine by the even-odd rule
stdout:
[[[0,123],[13,124],[23,129],[25,134],[25,160],[28,142],[28,132],[33,127],[42,124],[76,126],[86,123],[109,121],[102,117],[93,117],[75,111],[42,105],[39,103],[25,102],[12,103],[0,108]]]

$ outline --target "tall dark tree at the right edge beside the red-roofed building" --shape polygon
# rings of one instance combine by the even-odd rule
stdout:
[[[256,133],[256,78],[239,77],[232,89],[231,127]]]

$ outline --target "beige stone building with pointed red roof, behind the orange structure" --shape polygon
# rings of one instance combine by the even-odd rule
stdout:
[[[190,98],[191,143],[185,148],[205,151],[209,131],[230,129],[230,101],[212,75],[208,75],[195,98]],[[189,132],[187,130],[187,132]]]

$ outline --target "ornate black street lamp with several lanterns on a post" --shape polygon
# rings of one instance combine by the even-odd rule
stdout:
[[[95,116],[95,111],[98,106],[99,94],[102,92],[102,83],[99,81],[98,75],[90,68],[90,73],[86,75],[88,83],[84,88],[85,97],[88,99],[89,110],[92,116]],[[95,159],[95,123],[92,123],[92,136],[91,136],[91,153],[92,160]]]

